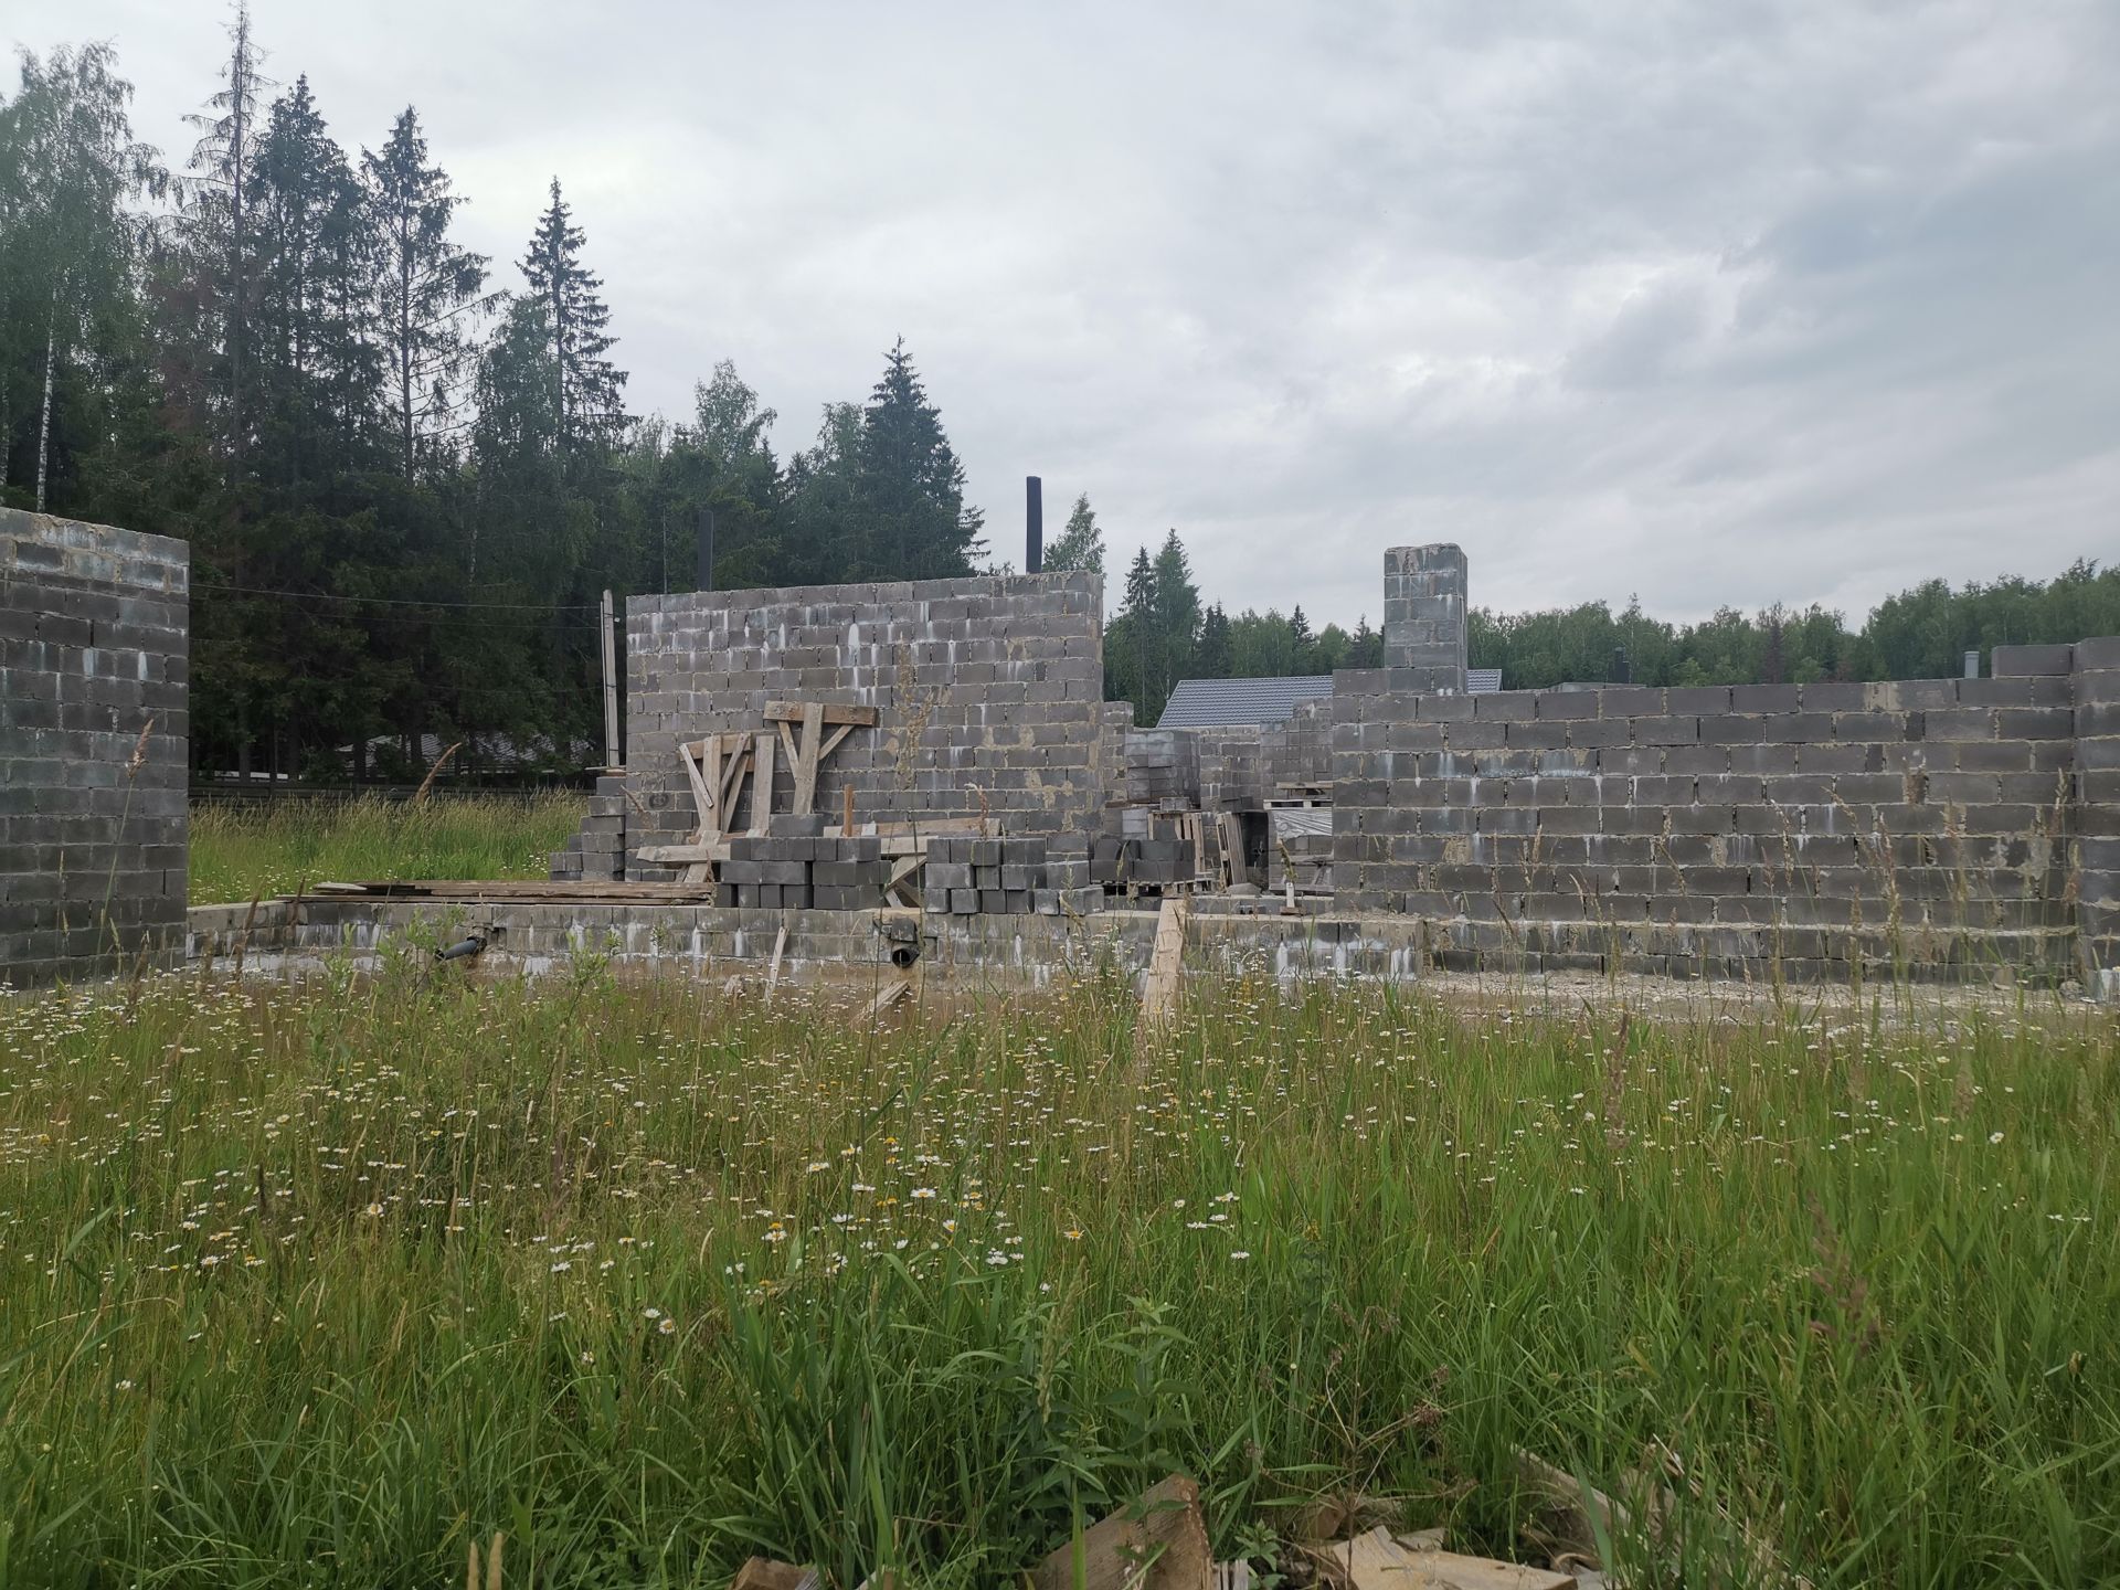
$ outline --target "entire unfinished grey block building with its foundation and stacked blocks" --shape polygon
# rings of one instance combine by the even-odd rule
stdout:
[[[0,532],[0,975],[167,956],[184,549]],[[1480,691],[1467,596],[1461,549],[1391,549],[1384,668],[1266,708],[1196,691],[1155,729],[1102,700],[1090,575],[634,598],[625,767],[551,882],[354,880],[199,907],[189,943],[369,950],[441,914],[526,967],[1035,982],[1187,952],[2120,992],[2120,638],[1999,647],[1984,678]]]

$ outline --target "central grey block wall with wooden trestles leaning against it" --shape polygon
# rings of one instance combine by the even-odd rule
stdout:
[[[820,765],[816,810],[859,823],[986,812],[1007,833],[1102,820],[1102,579],[1009,575],[636,596],[625,608],[628,876],[695,823],[678,740],[757,729],[767,702],[878,708]],[[793,787],[776,757],[776,810]]]

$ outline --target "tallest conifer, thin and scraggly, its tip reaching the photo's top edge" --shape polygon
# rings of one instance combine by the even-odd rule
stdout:
[[[210,386],[220,392],[223,439],[229,469],[242,477],[250,452],[250,254],[252,195],[257,161],[257,95],[271,87],[259,72],[259,49],[250,38],[250,6],[237,0],[229,23],[229,64],[220,89],[206,112],[187,117],[199,129],[184,182],[187,231],[210,284],[214,320],[214,369]]]

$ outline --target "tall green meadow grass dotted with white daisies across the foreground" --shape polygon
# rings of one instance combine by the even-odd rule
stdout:
[[[454,971],[454,969],[452,969]],[[2120,1577],[2120,1039],[1230,982],[0,1005],[0,1584],[1003,1584],[1172,1467],[1632,1584]]]

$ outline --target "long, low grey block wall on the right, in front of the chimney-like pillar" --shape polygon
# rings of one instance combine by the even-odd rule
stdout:
[[[1446,965],[2071,975],[2099,672],[1495,695],[1344,672],[1336,905],[1435,920]],[[2090,880],[2107,852],[2075,844]]]

